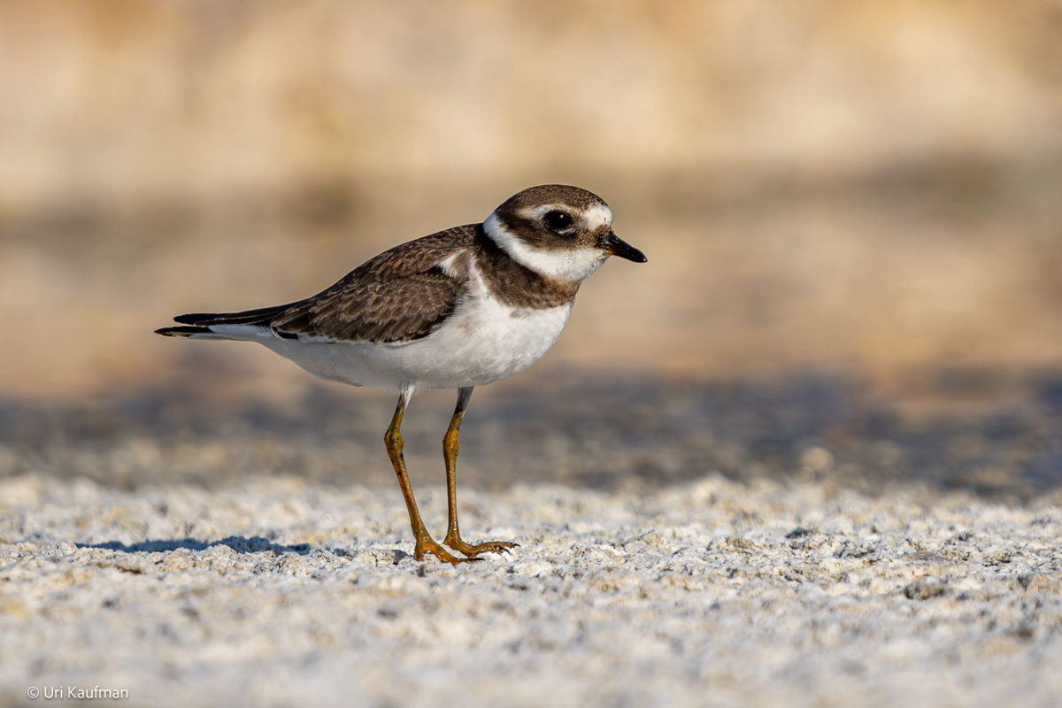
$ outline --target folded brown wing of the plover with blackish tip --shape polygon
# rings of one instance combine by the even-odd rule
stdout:
[[[412,342],[433,332],[457,309],[465,278],[440,263],[470,246],[477,227],[458,226],[395,246],[305,300],[176,320],[201,326],[261,325],[288,339]]]

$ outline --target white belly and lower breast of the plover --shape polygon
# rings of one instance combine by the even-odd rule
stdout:
[[[514,309],[478,296],[438,330],[409,344],[345,344],[258,340],[323,379],[400,390],[458,388],[494,383],[523,372],[549,350],[571,304]]]

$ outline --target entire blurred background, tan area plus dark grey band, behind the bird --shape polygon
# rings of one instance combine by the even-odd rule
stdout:
[[[1052,490],[1060,33],[1057,0],[3,3],[0,473],[392,483],[390,396],[152,330],[568,183],[649,264],[477,392],[475,483]]]

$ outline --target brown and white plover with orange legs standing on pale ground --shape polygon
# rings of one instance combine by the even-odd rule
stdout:
[[[582,282],[610,256],[647,262],[616,235],[612,222],[612,209],[593,192],[568,185],[530,187],[482,223],[397,245],[306,299],[241,312],[182,314],[173,318],[176,326],[155,332],[257,342],[322,379],[396,393],[383,442],[409,512],[414,558],[430,554],[451,565],[478,560],[483,553],[508,553],[517,543],[469,543],[461,535],[458,438],[473,390],[541,359],[567,324]],[[413,395],[435,388],[458,392],[443,438],[447,532],[442,543],[417,510],[401,436]]]

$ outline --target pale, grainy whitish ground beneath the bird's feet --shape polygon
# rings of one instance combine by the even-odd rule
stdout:
[[[439,529],[444,489],[419,496]],[[461,505],[469,538],[523,547],[418,564],[394,488],[6,478],[0,705],[1062,701],[1057,503],[714,476]]]

